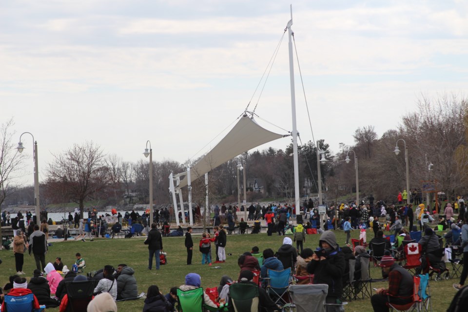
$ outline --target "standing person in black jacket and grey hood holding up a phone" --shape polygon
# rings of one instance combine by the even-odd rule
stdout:
[[[342,276],[345,272],[345,255],[336,243],[336,236],[331,231],[325,231],[320,236],[320,248],[314,251],[312,260],[307,265],[307,272],[314,274],[314,284],[327,284],[327,312],[340,311],[343,294]]]

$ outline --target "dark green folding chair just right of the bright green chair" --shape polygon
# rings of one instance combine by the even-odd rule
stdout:
[[[258,312],[258,286],[248,283],[231,284],[229,297],[234,312]]]

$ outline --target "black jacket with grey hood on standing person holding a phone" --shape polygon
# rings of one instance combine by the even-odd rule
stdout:
[[[320,248],[322,241],[331,246],[331,250],[323,250],[325,260],[312,260],[307,265],[307,272],[314,274],[314,284],[327,284],[328,296],[341,298],[343,293],[342,276],[345,272],[345,256],[336,243],[335,234],[325,231],[320,236]]]

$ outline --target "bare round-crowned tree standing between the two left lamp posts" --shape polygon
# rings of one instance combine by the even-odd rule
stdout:
[[[112,182],[105,165],[105,155],[92,141],[75,144],[67,151],[54,155],[48,164],[47,178],[51,186],[62,189],[72,201],[79,204],[83,217],[84,201],[91,195],[103,192]]]

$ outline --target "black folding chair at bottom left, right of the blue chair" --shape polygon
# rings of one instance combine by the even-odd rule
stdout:
[[[93,280],[80,282],[66,282],[68,306],[66,311],[86,311],[88,304],[93,299],[95,282]]]

